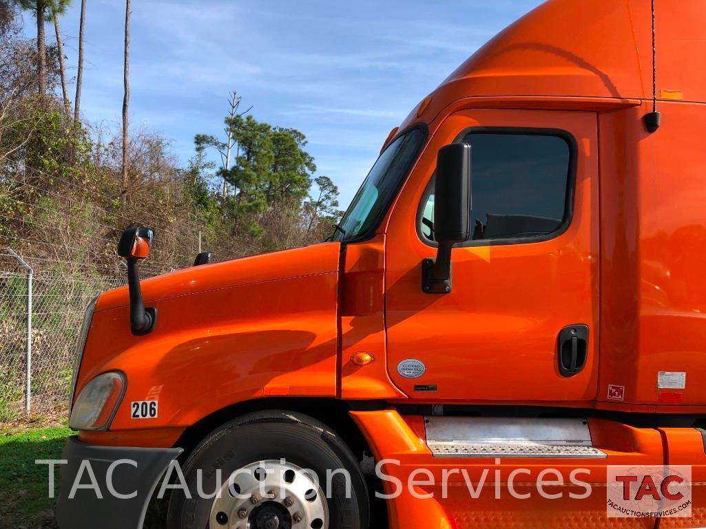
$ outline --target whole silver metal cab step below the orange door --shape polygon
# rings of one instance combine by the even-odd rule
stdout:
[[[434,457],[604,458],[584,419],[425,418],[426,444]]]

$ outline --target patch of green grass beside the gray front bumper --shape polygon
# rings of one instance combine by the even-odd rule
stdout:
[[[56,527],[47,465],[35,459],[60,459],[69,435],[62,426],[0,432],[0,529]],[[57,492],[58,483],[57,472]]]

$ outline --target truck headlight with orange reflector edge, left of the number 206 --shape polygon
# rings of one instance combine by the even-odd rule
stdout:
[[[107,430],[125,394],[125,375],[103,373],[81,390],[71,410],[68,425],[73,430]]]

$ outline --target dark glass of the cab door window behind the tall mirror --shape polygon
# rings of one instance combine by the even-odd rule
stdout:
[[[570,214],[571,149],[561,135],[471,132],[474,241],[548,236]],[[433,241],[433,186],[421,232]],[[521,242],[521,241],[517,241]]]

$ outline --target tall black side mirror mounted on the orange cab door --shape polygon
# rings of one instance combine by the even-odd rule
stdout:
[[[471,234],[471,146],[452,143],[439,149],[434,185],[436,260],[422,262],[421,288],[426,293],[451,291],[451,248]]]

